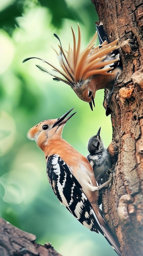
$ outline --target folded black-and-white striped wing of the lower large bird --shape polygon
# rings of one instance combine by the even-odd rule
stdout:
[[[70,213],[91,231],[98,233],[99,230],[103,234],[98,218],[81,185],[59,155],[49,157],[47,175],[55,195]]]

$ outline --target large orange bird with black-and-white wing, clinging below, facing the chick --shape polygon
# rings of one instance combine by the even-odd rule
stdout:
[[[82,225],[91,231],[101,232],[121,256],[119,245],[100,213],[98,188],[90,163],[62,139],[64,125],[76,113],[67,117],[72,110],[60,118],[45,120],[33,126],[27,137],[35,140],[44,151],[48,180],[59,201]]]

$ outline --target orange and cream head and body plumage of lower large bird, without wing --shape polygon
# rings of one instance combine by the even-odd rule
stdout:
[[[67,141],[62,139],[62,130],[66,122],[62,125],[60,124],[60,126],[53,127],[57,121],[58,119],[50,119],[40,122],[29,130],[27,137],[31,140],[35,140],[37,146],[44,151],[46,161],[51,155],[55,154],[59,155],[64,160],[70,167],[73,175],[82,185],[86,196],[92,198],[92,207],[97,208],[98,191],[92,191],[95,186],[97,187],[93,169],[86,157],[81,155]],[[43,130],[42,127],[44,125],[48,125],[49,129]],[[83,166],[83,172],[81,172],[81,165]],[[85,186],[86,183],[88,183],[89,187]]]

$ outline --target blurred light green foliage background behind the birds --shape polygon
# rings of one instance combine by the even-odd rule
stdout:
[[[35,67],[43,63],[22,61],[37,56],[57,63],[52,47],[58,50],[58,41],[53,33],[68,48],[70,25],[77,35],[79,22],[84,47],[95,33],[95,20],[90,0],[0,2],[0,216],[35,234],[38,243],[52,243],[64,256],[115,253],[105,238],[60,206],[48,184],[44,154],[26,133],[40,121],[60,117],[74,107],[77,114],[64,127],[63,137],[87,155],[87,141],[99,126],[105,145],[110,143],[110,117],[102,106],[103,90],[96,93],[96,108],[91,112],[68,85]]]

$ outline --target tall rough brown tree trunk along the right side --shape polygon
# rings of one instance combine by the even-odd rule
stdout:
[[[113,183],[103,194],[106,220],[123,256],[143,255],[143,0],[92,0],[110,41],[119,38],[123,72],[111,112]],[[108,136],[108,135],[107,135]]]

